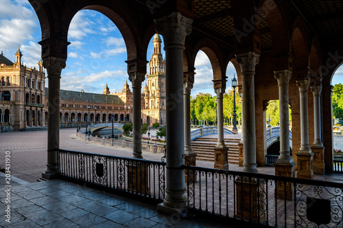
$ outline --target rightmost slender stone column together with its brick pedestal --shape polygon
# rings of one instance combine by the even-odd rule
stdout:
[[[314,144],[311,150],[314,153],[314,174],[324,175],[324,147],[320,125],[320,92],[322,86],[311,86],[314,94]]]

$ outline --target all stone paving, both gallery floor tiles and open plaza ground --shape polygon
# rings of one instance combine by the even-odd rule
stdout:
[[[75,136],[75,129],[61,129],[60,148],[74,151],[132,157],[132,149],[86,142]],[[221,227],[205,220],[182,219],[156,212],[155,205],[145,205],[114,194],[84,188],[61,180],[40,181],[47,159],[47,131],[0,134],[0,166],[5,151],[11,155],[12,222],[5,222],[0,210],[0,226],[5,227]],[[143,152],[147,160],[161,160],[163,154]],[[197,166],[213,168],[213,162],[197,161]],[[230,170],[241,170],[231,165]],[[274,168],[259,167],[260,173],[274,175]],[[5,176],[0,173],[0,183]],[[315,175],[314,179],[343,182],[342,175]],[[1,184],[0,206],[5,208],[5,186]],[[141,223],[143,225],[141,225]]]

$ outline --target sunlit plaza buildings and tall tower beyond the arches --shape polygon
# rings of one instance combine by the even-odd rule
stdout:
[[[141,122],[164,125],[165,60],[160,36],[156,34],[152,42],[154,53],[149,62],[147,84],[141,94]],[[15,55],[15,64],[2,52],[0,55],[0,131],[46,127],[49,89],[45,88],[43,62],[38,62],[38,69],[27,68],[21,64],[20,49]],[[108,123],[112,117],[116,123],[130,123],[132,106],[132,92],[127,81],[123,90],[115,93],[110,93],[107,84],[103,94],[60,90],[60,127],[85,127],[86,121]]]

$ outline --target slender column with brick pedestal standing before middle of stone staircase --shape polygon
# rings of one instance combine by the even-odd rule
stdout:
[[[223,83],[223,81],[222,81]],[[215,88],[217,94],[217,114],[218,114],[218,140],[215,146],[214,168],[228,170],[228,148],[224,143],[224,121],[223,121],[223,94],[224,88]]]

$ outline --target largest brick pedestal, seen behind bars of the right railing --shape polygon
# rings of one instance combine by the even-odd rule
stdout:
[[[235,180],[236,186],[236,217],[244,220],[252,220],[254,223],[261,223],[265,220],[265,181],[255,179]]]

